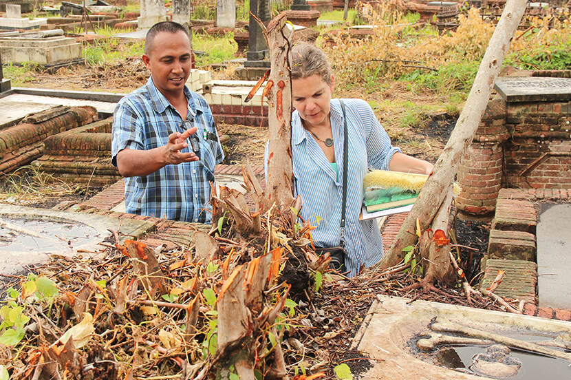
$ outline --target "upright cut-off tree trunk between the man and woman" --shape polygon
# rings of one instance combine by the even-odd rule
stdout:
[[[288,211],[292,204],[292,80],[290,76],[293,30],[286,27],[286,12],[268,23],[259,22],[270,49],[271,71],[266,84],[270,129],[266,197],[269,204]],[[269,90],[268,90],[269,87]],[[265,211],[265,210],[264,210]]]

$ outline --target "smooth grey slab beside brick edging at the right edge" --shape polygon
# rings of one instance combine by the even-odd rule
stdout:
[[[571,204],[540,204],[537,224],[539,306],[571,308]]]

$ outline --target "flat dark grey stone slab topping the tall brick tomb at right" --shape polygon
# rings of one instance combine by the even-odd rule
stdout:
[[[497,78],[495,89],[508,103],[571,100],[571,78]]]

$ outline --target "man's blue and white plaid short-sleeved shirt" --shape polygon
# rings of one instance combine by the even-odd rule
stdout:
[[[211,222],[211,182],[214,168],[224,153],[208,103],[184,86],[188,100],[186,120],[153,84],[147,84],[122,98],[114,112],[111,156],[125,148],[148,150],[169,142],[169,134],[197,127],[200,160],[166,165],[148,176],[125,179],[125,211],[185,222]],[[192,137],[192,136],[191,136]],[[189,152],[188,147],[182,149]]]

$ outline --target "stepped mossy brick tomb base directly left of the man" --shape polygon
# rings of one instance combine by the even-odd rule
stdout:
[[[32,165],[69,182],[116,182],[121,176],[111,165],[111,123],[112,117],[50,136],[43,156]]]

